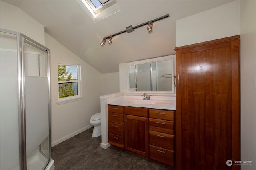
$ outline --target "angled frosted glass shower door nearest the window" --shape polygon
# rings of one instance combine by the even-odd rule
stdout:
[[[21,35],[27,170],[42,170],[50,161],[49,50]]]

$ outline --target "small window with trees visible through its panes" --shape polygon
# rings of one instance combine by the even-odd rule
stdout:
[[[58,64],[59,101],[79,98],[80,94],[80,66]]]

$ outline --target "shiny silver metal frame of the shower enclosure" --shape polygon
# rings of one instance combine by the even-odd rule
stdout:
[[[25,108],[25,49],[24,44],[27,43],[41,51],[47,53],[47,78],[48,78],[48,124],[49,124],[49,143],[48,153],[49,159],[44,168],[51,160],[51,100],[50,100],[50,49],[27,37],[26,35],[0,28],[0,32],[10,33],[17,36],[17,67],[18,67],[18,121],[19,121],[19,159],[20,170],[27,170],[27,154],[26,154],[26,108]]]

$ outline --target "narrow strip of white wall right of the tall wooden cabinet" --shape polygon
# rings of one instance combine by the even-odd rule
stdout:
[[[241,30],[241,159],[256,169],[256,1],[240,1]]]

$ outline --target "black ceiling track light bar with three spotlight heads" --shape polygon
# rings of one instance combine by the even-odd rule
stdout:
[[[154,19],[154,20],[151,20],[151,21],[142,23],[142,24],[137,25],[137,26],[135,26],[135,27],[132,27],[132,25],[130,25],[130,26],[126,27],[126,30],[124,30],[124,31],[120,31],[120,32],[118,32],[118,33],[115,33],[115,34],[112,34],[112,35],[109,35],[109,36],[103,38],[103,40],[102,40],[102,42],[100,43],[100,45],[103,47],[103,46],[105,45],[105,43],[106,43],[106,39],[107,39],[107,41],[108,41],[108,44],[111,45],[111,44],[112,44],[112,37],[114,37],[114,36],[116,36],[116,35],[119,35],[119,34],[122,34],[122,33],[125,33],[125,32],[130,33],[130,32],[132,32],[132,31],[134,31],[134,29],[139,28],[139,27],[142,27],[142,26],[144,26],[144,25],[148,25],[148,27],[147,27],[148,33],[151,33],[151,32],[153,31],[153,22],[156,22],[156,21],[162,20],[162,19],[164,19],[164,18],[168,18],[168,17],[169,17],[169,14],[167,14],[167,15],[165,15],[165,16],[161,16],[161,17],[156,18],[156,19]]]

